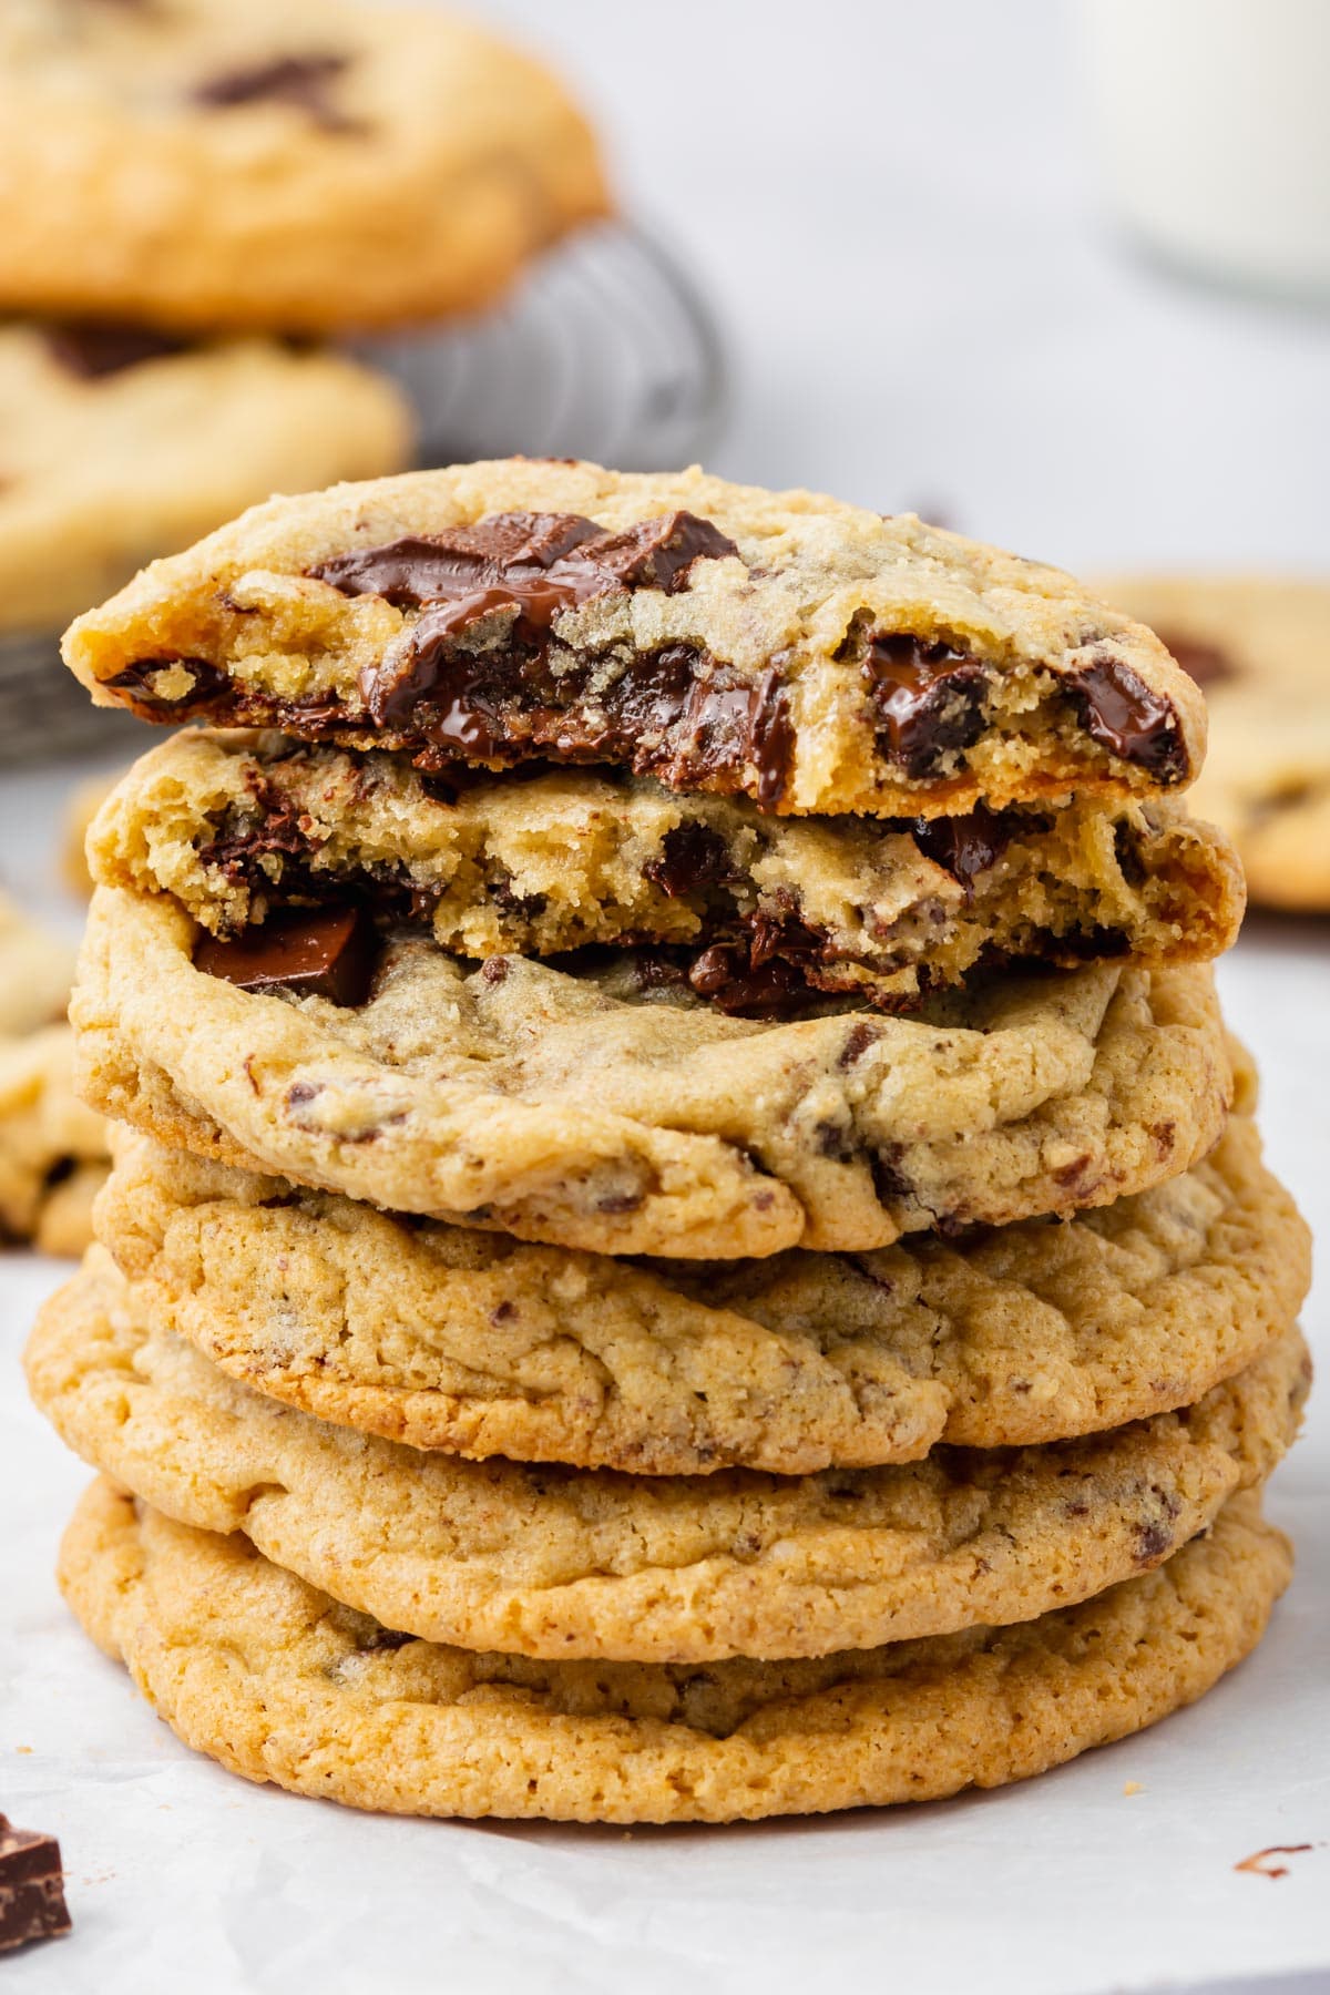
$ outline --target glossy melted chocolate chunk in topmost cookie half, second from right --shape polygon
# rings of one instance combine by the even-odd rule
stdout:
[[[949,754],[979,740],[991,670],[969,652],[907,632],[877,632],[861,670],[881,752],[907,776],[933,776]]]

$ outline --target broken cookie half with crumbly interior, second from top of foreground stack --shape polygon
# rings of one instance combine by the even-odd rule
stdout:
[[[239,982],[309,912],[369,908],[461,956],[650,946],[748,1017],[820,994],[905,1009],[979,964],[1200,962],[1242,916],[1234,854],[1174,802],[814,822],[584,770],[441,796],[397,756],[273,734],[181,730],[90,854],[108,886],[173,894]]]

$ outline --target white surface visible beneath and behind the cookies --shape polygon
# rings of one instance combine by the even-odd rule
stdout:
[[[580,72],[626,201],[710,283],[736,349],[718,471],[919,505],[1083,569],[1324,563],[1330,331],[1184,289],[1113,239],[1071,8],[491,12]],[[0,778],[0,864],[70,922],[64,780]],[[1252,922],[1220,980],[1264,1069],[1272,1161],[1324,1239],[1330,930]],[[78,1935],[6,1961],[6,1987],[1330,1987],[1330,1393],[1272,1496],[1300,1564],[1268,1642],[1155,1734],[891,1815],[632,1837],[397,1823],[191,1760],[72,1628],[50,1566],[86,1472],[16,1369],[58,1277],[0,1261],[0,1807],[60,1831]],[[1330,1367],[1324,1283],[1308,1329]],[[1234,1871],[1302,1841],[1282,1879]]]

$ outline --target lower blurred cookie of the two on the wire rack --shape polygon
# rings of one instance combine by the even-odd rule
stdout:
[[[411,431],[391,381],[313,347],[0,325],[0,630],[58,630],[271,491],[397,471]]]

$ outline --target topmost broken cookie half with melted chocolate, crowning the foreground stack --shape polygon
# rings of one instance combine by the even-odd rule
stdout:
[[[913,515],[506,459],[273,501],[66,636],[100,704],[588,762],[788,814],[1153,796],[1204,752],[1163,644]]]

